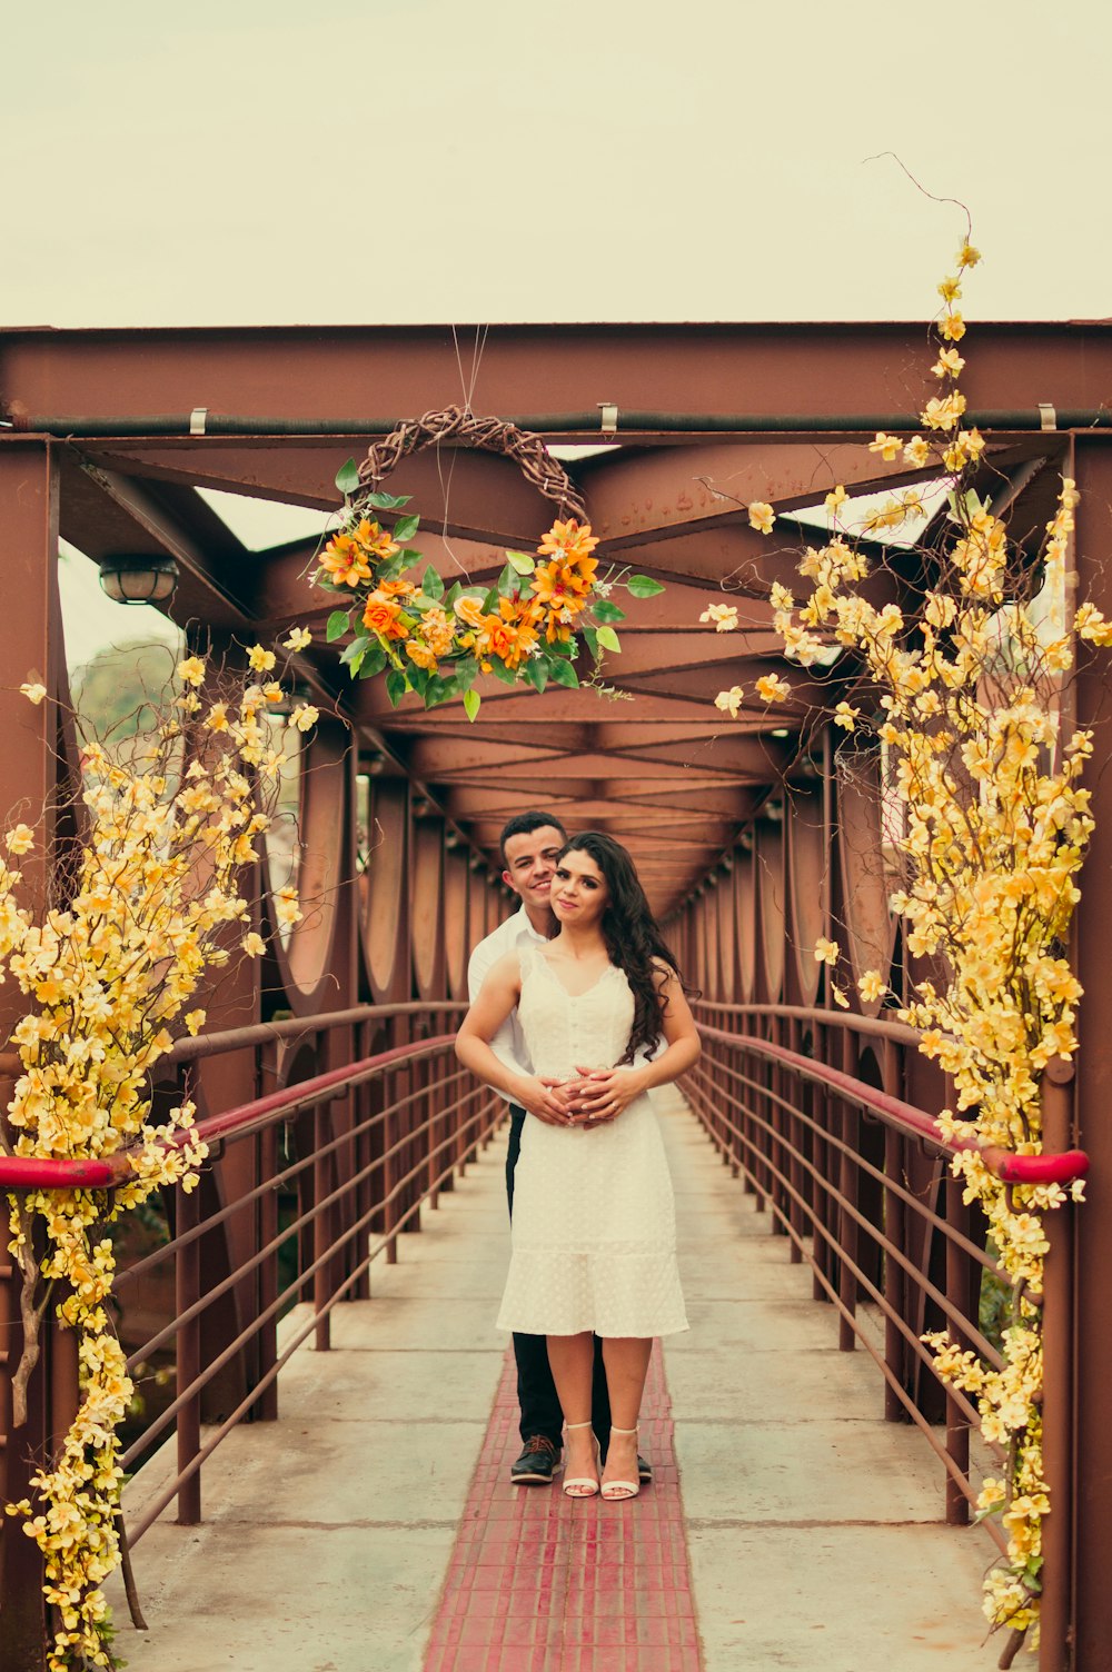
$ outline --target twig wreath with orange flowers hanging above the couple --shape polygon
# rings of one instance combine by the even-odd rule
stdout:
[[[431,563],[413,579],[423,563],[410,543],[420,518],[408,512],[406,495],[378,487],[401,456],[448,438],[512,456],[565,513],[535,552],[507,552],[490,587],[457,580],[446,589]],[[348,460],[336,487],[344,495],[343,522],[311,577],[313,585],[343,600],[328,617],[326,639],[351,635],[341,664],[351,679],[385,672],[393,707],[406,692],[420,696],[426,709],[462,697],[473,721],[480,674],[537,692],[548,682],[579,686],[575,662],[584,649],[594,664],[584,684],[605,689],[602,660],[607,650],[620,650],[615,624],[625,619],[612,592],[624,587],[630,597],[649,599],[664,590],[625,568],[599,573],[599,538],[567,473],[540,436],[497,418],[478,420],[462,408],[428,413],[371,448],[363,465]]]

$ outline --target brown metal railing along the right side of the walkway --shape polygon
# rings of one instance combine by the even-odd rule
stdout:
[[[918,1035],[880,1018],[789,1005],[702,1003],[696,1013],[704,1048],[684,1080],[691,1107],[757,1211],[789,1239],[791,1259],[811,1267],[814,1297],[838,1314],[839,1348],[860,1344],[876,1363],[885,1416],[915,1423],[941,1461],[946,1522],[967,1523],[980,1490],[970,1470],[978,1411],[938,1378],[921,1336],[946,1329],[998,1369],[982,1296],[992,1301],[1012,1282],[993,1259],[980,1209],[963,1200],[963,1182],[950,1170],[962,1145],[943,1139],[933,1110],[895,1093]],[[915,1058],[915,1067],[926,1065]],[[1045,1073],[1043,1154],[982,1150],[1005,1184],[1069,1184],[1085,1174],[1087,1155],[1067,1149],[1072,1073],[1065,1062]],[[936,1085],[940,1109],[941,1073]],[[1040,1667],[1057,1672],[1070,1618],[1072,1207],[1045,1226],[1043,1461],[1055,1513],[1043,1532]],[[985,1436],[980,1451],[1002,1465]],[[985,1527],[1003,1550],[997,1522]]]

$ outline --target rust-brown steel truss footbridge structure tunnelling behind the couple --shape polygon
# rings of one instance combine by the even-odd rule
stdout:
[[[234,1142],[227,1127],[199,1200],[169,1209],[171,1251],[192,1237],[196,1292],[217,1287],[222,1301],[179,1331],[177,1401],[152,1436],[135,1436],[132,1460],[177,1428],[179,1517],[196,1518],[201,1423],[276,1409],[268,1329],[286,1279],[252,1264],[259,1237],[273,1244],[294,1224],[308,1272],[298,1294],[314,1302],[316,1341],[326,1346],[336,1296],[368,1294],[358,1234],[378,1237],[393,1257],[421,1200],[450,1190],[453,1169],[488,1137],[498,1112],[453,1068],[450,1035],[467,1000],[468,951],[510,910],[498,833],[513,813],[540,808],[569,831],[607,831],[630,849],[701,991],[704,1057],[684,1087],[691,1109],[788,1239],[793,1262],[811,1266],[816,1304],[828,1308],[839,1344],[876,1359],[885,1415],[921,1430],[940,1460],[945,1518],[965,1523],[978,1490],[977,1413],[936,1379],[920,1338],[956,1321],[967,1343],[997,1351],[983,1334],[992,1256],[948,1175],[946,1145],[931,1137],[946,1102],[943,1075],[881,1000],[856,997],[866,970],[901,993],[910,958],[890,910],[885,761],[831,726],[854,669],[836,647],[809,669],[786,662],[771,600],[776,582],[798,584],[836,485],[863,502],[893,485],[925,485],[930,520],[916,542],[945,538],[945,483],[868,450],[876,430],[918,423],[921,331],[492,329],[470,390],[475,410],[543,438],[582,495],[602,570],[644,573],[664,590],[622,597],[622,647],[597,689],[537,694],[487,677],[475,721],[462,701],[425,709],[410,696],[395,707],[383,675],[348,679],[341,645],[326,637],[329,600],[308,582],[319,540],[256,548],[219,512],[222,497],[236,495],[318,512],[324,527],[339,508],[334,475],[348,456],[358,461],[400,421],[462,400],[462,338],[435,326],[0,336],[8,804],[42,803],[59,774],[77,771],[70,731],[47,732],[43,712],[28,717],[15,692],[37,674],[67,699],[59,538],[104,572],[172,563],[176,590],[161,607],[194,645],[234,657],[236,645],[271,644],[296,625],[313,634],[293,667],[321,716],[289,781],[296,838],[263,859],[271,881],[294,876],[304,921],[284,935],[271,925],[268,960],[211,995],[211,1033],[167,1058],[164,1092],[187,1075],[202,1117],[254,1110],[246,1140]],[[1112,589],[1104,562],[1112,460],[1090,420],[1110,386],[1109,331],[1092,324],[982,328],[967,388],[987,436],[983,493],[1010,508],[1013,527],[1033,537],[1053,512],[1060,475],[1079,480],[1097,602]],[[552,505],[512,458],[467,446],[401,458],[388,487],[411,497],[421,517],[415,543],[445,580],[493,584],[505,552],[533,550],[552,522]],[[773,507],[773,537],[751,527],[754,500]],[[876,585],[911,594],[920,577],[911,560],[901,568],[900,543],[878,542],[876,552],[886,558]],[[736,607],[734,630],[704,619],[711,604]],[[754,696],[771,674],[789,686],[776,706]],[[1085,679],[1077,701],[1095,712],[1100,692]],[[734,686],[742,696],[731,714],[716,696]],[[1095,782],[1094,793],[1104,811],[1112,784]],[[1099,811],[1087,871],[1097,915],[1107,896],[1105,826],[1112,819]],[[851,976],[844,1013],[813,951],[834,925]],[[1082,933],[1079,960],[1087,1025],[1100,1033],[1112,1025],[1112,983],[1095,941]],[[0,998],[13,1002],[8,988]],[[1082,1050],[1058,1130],[1062,1149],[1085,1144],[1094,1169],[1112,1149],[1097,1057]],[[356,1082],[344,1078],[351,1063],[375,1067]],[[269,1125],[258,1112],[268,1097]],[[261,1194],[261,1180],[283,1169],[291,1182],[279,1202]],[[344,1177],[358,1179],[349,1195]],[[1094,1480],[1097,1460],[1112,1466],[1099,1396],[1110,1349],[1092,1276],[1107,1269],[1110,1242],[1112,1217],[1084,1221],[1053,1302],[1070,1314],[1055,1336],[1048,1415],[1064,1505],[1079,1458]],[[179,1311],[182,1296],[179,1284]],[[10,1267],[0,1308],[15,1324]],[[259,1319],[269,1319],[266,1329]],[[156,1339],[172,1334],[166,1324]],[[147,1346],[139,1336],[137,1353],[139,1343]],[[59,1348],[37,1386],[40,1445],[67,1388],[72,1366]],[[8,1420],[10,1404],[0,1404],[0,1430]],[[25,1476],[25,1451],[3,1453],[8,1498]],[[1094,1555],[1102,1538],[1107,1510],[1082,1480],[1047,1553],[1043,1672],[1064,1672],[1067,1639],[1090,1655],[1107,1642],[1112,1600]],[[28,1587],[28,1553],[10,1535],[0,1548],[13,1608],[17,1587]],[[22,1630],[25,1645],[38,1624]],[[15,1672],[3,1657],[0,1649],[0,1669]],[[30,1665],[22,1660],[18,1672]],[[1100,1660],[1077,1665],[1094,1672]]]

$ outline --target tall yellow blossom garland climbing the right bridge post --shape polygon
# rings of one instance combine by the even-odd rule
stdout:
[[[926,518],[921,490],[893,493],[849,528],[843,485],[826,497],[829,538],[799,563],[806,595],[796,600],[776,584],[771,604],[791,660],[803,667],[828,662],[838,647],[856,655],[856,689],[836,704],[833,721],[848,734],[865,734],[886,761],[886,841],[905,868],[891,910],[906,923],[906,951],[935,960],[936,975],[913,980],[901,1007],[886,973],[865,971],[858,988],[866,1003],[896,1003],[898,1018],[921,1030],[920,1050],[953,1077],[955,1107],[941,1112],[938,1125],[946,1139],[972,1140],[955,1155],[953,1172],[965,1182],[965,1200],[982,1207],[1012,1281],[1000,1369],[948,1331],[923,1339],[935,1351],[938,1374],[977,1399],[982,1435],[1005,1458],[978,1498],[978,1518],[1000,1517],[1007,1538],[1007,1555],[985,1578],[985,1615],[1015,1634],[1013,1645],[1025,1637],[1033,1650],[1042,1523],[1050,1513],[1042,1465],[1043,1216],[1067,1195],[1055,1184],[1005,1185],[982,1149],[1042,1150],[1042,1073],[1053,1057],[1077,1050],[1082,988],[1064,948],[1094,828],[1089,793],[1079,782],[1092,734],[1060,734],[1055,699],[1074,664],[1075,639],[1107,647],[1112,624],[1090,604],[1067,620],[1062,602],[1055,617],[1053,600],[1067,599],[1079,498],[1070,478],[1062,482],[1037,557],[1008,538],[1005,522],[975,492],[985,441],[962,423],[965,359],[956,344],[967,326],[956,303],[978,259],[967,241],[956,273],[938,286],[943,308],[931,373],[940,395],[920,415],[926,433],[903,440],[881,431],[868,443],[885,461],[903,455],[910,468],[933,465],[948,487],[953,538],[945,552],[921,548],[921,604],[905,614],[893,602],[870,602],[860,584],[871,565],[856,543],[858,535],[883,537]],[[901,558],[906,563],[906,547]],[[1043,600],[1038,607],[1035,597]],[[711,605],[707,614],[717,630],[737,625],[732,605]],[[769,692],[757,694],[768,699]],[[861,702],[866,694],[870,701]],[[876,696],[878,722],[868,719]],[[736,686],[719,694],[717,706],[736,714],[742,699]],[[836,970],[839,946],[819,940],[814,956]],[[848,1008],[834,981],[831,995]],[[1072,1194],[1082,1199],[1080,1184]],[[1012,1652],[1005,1650],[1008,1662]]]

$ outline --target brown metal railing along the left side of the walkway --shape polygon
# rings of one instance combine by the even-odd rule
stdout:
[[[493,1135],[505,1102],[453,1053],[463,1010],[361,1007],[184,1040],[171,1053],[177,1093],[197,1060],[246,1048],[256,1053],[256,1083],[276,1088],[197,1122],[194,1132],[209,1145],[201,1187],[166,1192],[167,1241],[120,1262],[114,1296],[122,1316],[159,1314],[145,1339],[129,1338],[129,1369],[142,1376],[172,1353],[164,1373],[172,1396],[129,1436],[124,1468],[137,1468],[176,1435],[176,1466],[127,1525],[129,1545],[174,1498],[179,1523],[201,1520],[207,1458],[237,1423],[278,1416],[283,1366],[309,1336],[318,1349],[329,1348],[333,1309],[370,1296],[371,1262],[380,1254],[396,1259],[398,1234],[420,1231],[421,1206],[435,1206]],[[381,1048],[368,1050],[368,1042]],[[291,1070],[329,1055],[344,1060],[283,1083]],[[0,1157],[0,1189],[110,1190],[129,1172],[125,1154],[104,1162]],[[311,1313],[283,1331],[279,1346],[279,1321],[299,1301]],[[52,1331],[43,1354],[55,1435],[79,1398],[75,1356],[52,1351],[67,1336]],[[10,1373],[12,1354],[0,1363],[0,1383]],[[7,1605],[25,1588],[18,1575],[28,1578],[30,1540],[13,1548],[8,1538],[7,1547],[5,1624]],[[37,1557],[33,1547],[30,1553]],[[0,1669],[8,1672],[2,1650]]]

